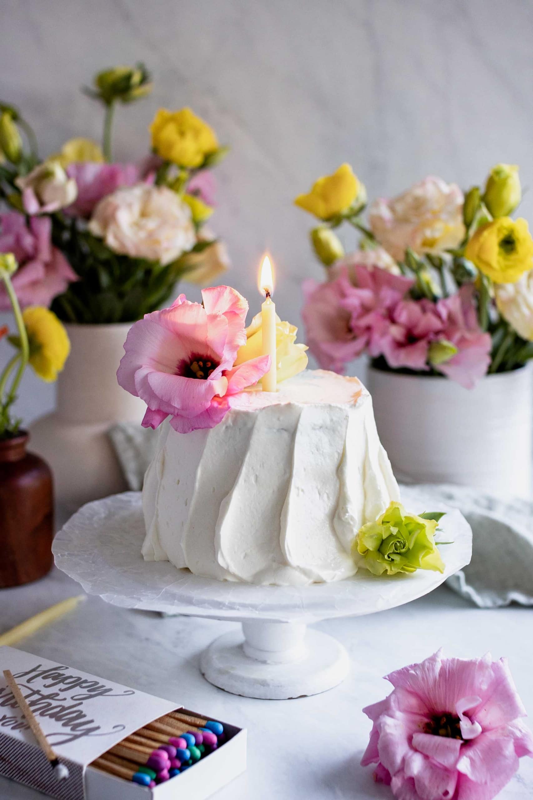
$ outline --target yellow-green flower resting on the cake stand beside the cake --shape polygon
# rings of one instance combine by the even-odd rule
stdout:
[[[442,514],[406,514],[399,502],[391,502],[376,522],[358,531],[352,546],[357,566],[374,575],[436,570],[444,572],[435,543],[435,532]]]

